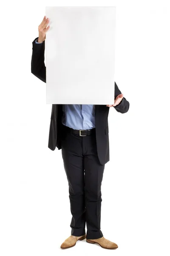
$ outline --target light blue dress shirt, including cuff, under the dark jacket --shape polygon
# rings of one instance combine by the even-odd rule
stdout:
[[[40,44],[35,41],[36,44]],[[95,105],[62,105],[62,124],[74,130],[95,128]]]

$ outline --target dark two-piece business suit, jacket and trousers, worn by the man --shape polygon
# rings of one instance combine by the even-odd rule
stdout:
[[[44,63],[45,41],[32,42],[31,73],[46,83]],[[115,82],[115,99],[121,94]],[[123,97],[117,112],[126,113],[129,102]],[[72,134],[71,129],[62,125],[62,105],[52,104],[48,148],[62,149],[62,158],[69,185],[71,204],[71,234],[82,236],[87,224],[87,239],[103,236],[100,230],[101,183],[105,163],[109,161],[109,128],[106,105],[95,106],[96,128],[89,136]]]

